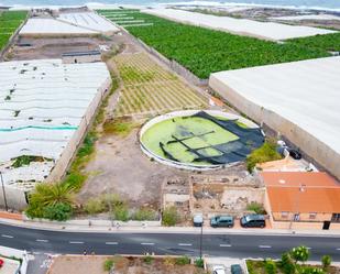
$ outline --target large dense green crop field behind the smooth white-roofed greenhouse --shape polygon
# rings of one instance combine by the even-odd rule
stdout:
[[[123,23],[124,20],[117,17],[117,11],[99,11],[99,13],[121,24],[131,34],[167,58],[177,61],[200,78],[208,78],[215,72],[330,55],[323,48],[308,47],[294,41],[284,44],[263,41],[180,24],[141,12],[129,11],[122,15],[129,18],[129,21],[138,21],[135,25]]]

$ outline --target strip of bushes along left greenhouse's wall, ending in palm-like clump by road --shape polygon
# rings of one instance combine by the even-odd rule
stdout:
[[[87,179],[88,175],[84,168],[95,154],[95,142],[98,138],[98,128],[103,123],[105,109],[108,106],[108,100],[119,85],[118,77],[112,75],[111,78],[112,86],[110,92],[102,101],[92,128],[78,149],[65,179],[58,183],[37,184],[29,196],[29,206],[25,210],[28,217],[66,221],[73,216],[75,208],[74,196],[81,189]]]

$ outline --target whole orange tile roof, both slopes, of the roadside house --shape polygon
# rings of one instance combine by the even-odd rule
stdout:
[[[340,184],[327,173],[263,172],[273,212],[340,213]]]

